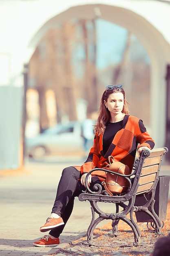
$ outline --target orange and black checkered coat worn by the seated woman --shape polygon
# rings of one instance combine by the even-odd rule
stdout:
[[[109,155],[113,155],[115,161],[128,165],[132,171],[137,148],[147,146],[152,149],[154,146],[154,141],[146,131],[143,121],[131,115],[125,115],[122,129],[116,133],[106,154],[103,152],[102,140],[103,135],[98,136],[96,133],[88,159],[81,166],[81,173],[87,173],[96,167],[105,168]],[[102,171],[95,171],[93,174],[99,176],[100,180],[106,178]]]

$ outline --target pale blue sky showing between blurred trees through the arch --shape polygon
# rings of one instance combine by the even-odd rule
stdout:
[[[110,65],[117,65],[121,62],[124,48],[126,47],[128,30],[112,22],[97,19],[97,68],[99,70],[105,69]],[[92,30],[93,33],[93,30]],[[141,45],[138,38],[130,35],[130,58],[131,61],[140,59],[149,64],[149,56],[146,49]],[[89,56],[93,55],[93,49]],[[81,61],[85,59],[84,45],[82,43],[75,45],[73,62],[75,63],[75,73],[82,76],[84,73]],[[80,63],[78,62],[80,61]],[[79,63],[77,67],[77,63]]]

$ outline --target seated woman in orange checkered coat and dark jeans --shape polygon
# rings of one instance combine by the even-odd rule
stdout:
[[[57,195],[50,218],[40,227],[41,232],[49,231],[35,246],[56,246],[59,236],[73,210],[75,196],[84,190],[86,175],[93,168],[105,168],[108,156],[113,155],[116,161],[132,166],[136,151],[151,150],[155,143],[150,137],[142,120],[129,115],[128,102],[122,85],[108,85],[102,95],[99,117],[95,125],[95,138],[86,162],[82,166],[70,166],[63,170]],[[139,144],[139,145],[138,145]],[[105,180],[102,171],[89,175],[88,186]]]

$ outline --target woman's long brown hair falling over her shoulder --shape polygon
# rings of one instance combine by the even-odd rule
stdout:
[[[128,103],[128,101],[125,98],[124,89],[117,88],[116,86],[114,86],[113,89],[105,90],[102,95],[102,99],[100,101],[99,117],[97,119],[97,124],[94,127],[94,131],[97,132],[98,135],[103,134],[106,124],[110,120],[110,111],[104,105],[104,100],[107,102],[109,95],[112,93],[116,93],[116,92],[121,92],[124,95],[124,107],[123,107],[122,113],[129,115],[128,105],[130,105],[130,104]]]

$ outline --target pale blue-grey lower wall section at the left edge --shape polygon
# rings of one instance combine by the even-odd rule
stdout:
[[[22,164],[23,88],[0,86],[0,170]]]

